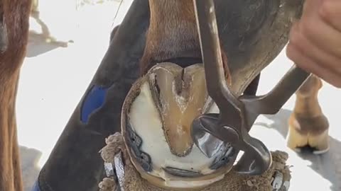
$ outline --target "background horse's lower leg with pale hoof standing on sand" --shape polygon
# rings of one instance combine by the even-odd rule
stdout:
[[[318,103],[318,91],[322,81],[310,76],[296,92],[296,105],[289,117],[288,147],[298,149],[310,146],[314,154],[323,154],[329,149],[328,119]]]

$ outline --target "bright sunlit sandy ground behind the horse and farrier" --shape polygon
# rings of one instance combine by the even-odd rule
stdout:
[[[131,0],[104,1],[75,11],[75,1],[40,0],[40,16],[31,18],[28,53],[18,89],[18,139],[26,191],[36,180],[75,106],[107,50],[109,32],[124,17]],[[117,13],[117,11],[119,11]],[[58,42],[50,43],[52,35]],[[259,94],[269,91],[290,68],[282,52],[261,77]],[[325,83],[319,99],[330,121],[327,154],[296,154],[286,148],[287,119],[293,96],[277,115],[261,116],[251,130],[271,150],[287,151],[292,165],[290,190],[341,190],[341,91]]]

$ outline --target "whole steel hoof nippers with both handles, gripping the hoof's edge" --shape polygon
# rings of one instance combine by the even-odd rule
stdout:
[[[221,141],[228,142],[234,149],[244,151],[244,156],[237,163],[237,171],[260,175],[269,169],[272,158],[266,146],[249,135],[249,129],[260,114],[278,112],[309,74],[293,66],[265,96],[236,98],[224,79],[214,3],[212,0],[193,1],[207,91],[220,108],[219,115],[205,114],[193,121],[193,140],[207,156],[217,152]]]

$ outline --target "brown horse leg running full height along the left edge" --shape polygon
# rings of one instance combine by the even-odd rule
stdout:
[[[0,0],[0,190],[21,191],[15,101],[31,0]]]

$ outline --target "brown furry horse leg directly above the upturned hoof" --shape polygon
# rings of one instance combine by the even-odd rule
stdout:
[[[172,59],[189,58],[195,61],[201,59],[193,0],[149,0],[148,2],[151,18],[146,34],[146,47],[140,62],[140,74],[146,74],[148,69],[157,63]],[[198,63],[185,60],[185,63],[176,64],[188,66]],[[230,84],[224,50],[222,50],[222,60],[227,83]]]

